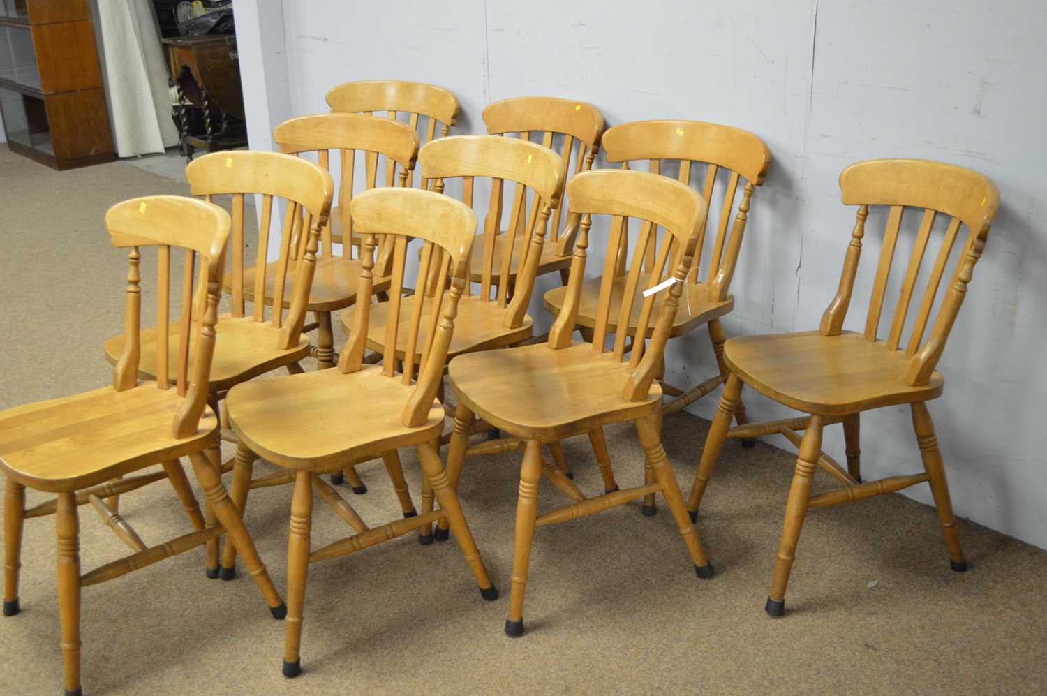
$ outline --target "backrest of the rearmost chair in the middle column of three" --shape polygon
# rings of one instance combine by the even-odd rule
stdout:
[[[484,109],[484,125],[491,135],[518,133],[524,140],[532,136],[540,137],[542,147],[554,149],[554,137],[562,138],[560,157],[563,169],[560,178],[565,182],[572,173],[588,172],[600,147],[603,133],[603,114],[592,104],[561,99],[555,96],[517,96],[487,105]],[[524,202],[526,203],[526,201]],[[532,201],[529,217],[534,217],[538,202]],[[517,205],[513,201],[513,205]],[[553,211],[551,232],[548,242],[560,239],[560,218],[563,205]],[[520,217],[522,222],[522,216]]]

